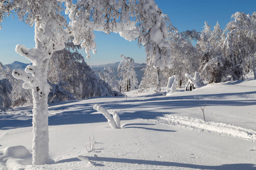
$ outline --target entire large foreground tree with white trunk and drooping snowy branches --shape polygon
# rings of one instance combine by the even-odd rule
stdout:
[[[69,16],[69,25],[64,10]],[[32,66],[27,66],[25,71],[13,71],[15,78],[24,80],[24,88],[32,89],[33,164],[45,164],[48,160],[48,63],[53,52],[64,49],[68,36],[73,35],[74,44],[81,44],[89,57],[90,50],[96,52],[93,31],[118,32],[127,40],[137,39],[144,45],[147,58],[155,67],[163,69],[171,64],[166,23],[154,0],[13,0],[1,1],[0,11],[0,23],[6,15],[15,13],[20,20],[35,25],[35,48],[16,46],[16,52],[30,59]]]

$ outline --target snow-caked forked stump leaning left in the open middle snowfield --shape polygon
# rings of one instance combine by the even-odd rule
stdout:
[[[106,119],[108,120],[109,125],[112,129],[120,128],[120,118],[119,118],[117,112],[114,111],[112,113],[113,114],[113,117],[112,117],[111,114],[101,105],[96,104],[93,106],[93,109],[102,113],[106,117]]]

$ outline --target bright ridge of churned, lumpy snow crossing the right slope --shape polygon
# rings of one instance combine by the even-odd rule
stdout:
[[[175,115],[166,115],[158,117],[158,122],[167,125],[181,126],[192,130],[208,131],[210,133],[227,135],[234,138],[256,141],[256,131],[224,124],[221,122],[204,122],[203,120],[191,117],[182,117]]]

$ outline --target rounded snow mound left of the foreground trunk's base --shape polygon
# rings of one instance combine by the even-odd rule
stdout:
[[[3,155],[13,158],[24,158],[30,155],[30,152],[24,146],[8,146],[3,149]]]

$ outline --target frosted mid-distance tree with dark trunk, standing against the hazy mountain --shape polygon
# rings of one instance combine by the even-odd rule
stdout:
[[[134,70],[134,59],[130,57],[125,57],[123,54],[121,55],[123,58],[118,65],[117,71],[118,76],[122,78],[119,82],[119,86],[121,86],[121,91],[131,91],[138,88],[138,79],[137,74]]]

